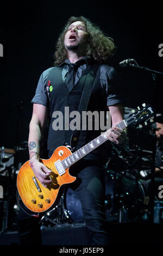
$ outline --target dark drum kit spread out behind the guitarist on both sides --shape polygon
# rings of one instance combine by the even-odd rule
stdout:
[[[127,118],[133,111],[131,108],[124,108],[124,110],[124,118]],[[141,221],[145,212],[148,212],[149,199],[146,197],[142,181],[149,177],[151,171],[153,151],[152,144],[150,145],[149,142],[152,141],[151,135],[154,132],[154,123],[145,127],[130,127],[128,129],[129,139],[127,138],[123,145],[111,143],[111,153],[103,166],[105,215],[108,222]],[[108,143],[110,147],[110,142]],[[27,153],[27,148],[28,143],[24,142],[18,151],[24,150]],[[10,228],[8,220],[13,211],[16,211],[15,215],[17,216],[19,207],[15,202],[13,193],[13,190],[14,192],[16,191],[15,175],[18,172],[18,170],[15,171],[14,169],[15,151],[2,147],[0,155],[0,185],[4,189],[0,204],[1,209],[3,208],[5,211],[5,216],[4,214],[1,216],[1,233],[1,231]],[[22,163],[20,163],[21,165]],[[7,206],[5,206],[5,203]],[[14,208],[12,209],[13,211],[11,211],[11,208]],[[82,205],[76,192],[70,187],[64,188],[58,205],[51,211],[46,212],[41,219],[42,228],[56,225],[85,225]]]

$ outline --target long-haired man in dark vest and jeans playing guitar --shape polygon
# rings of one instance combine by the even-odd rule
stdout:
[[[120,81],[114,68],[106,64],[114,53],[113,40],[105,36],[89,19],[83,16],[70,17],[57,41],[54,67],[42,73],[32,100],[33,115],[29,131],[30,166],[43,186],[46,187],[51,182],[51,170],[39,162],[43,127],[49,118],[48,157],[60,145],[70,145],[73,131],[54,129],[54,112],[61,111],[65,118],[65,107],[69,107],[70,111],[78,111],[87,80],[90,79],[93,83],[87,110],[100,112],[109,108],[112,128],[108,139],[116,144],[125,140],[126,133],[116,127],[123,120]],[[80,131],[83,137],[82,142],[79,140],[77,149],[100,134],[101,131],[95,129],[87,130],[86,133]],[[72,189],[82,204],[90,245],[108,245],[110,241],[104,212],[102,152],[101,147],[96,148],[79,160],[74,168],[78,179],[72,185]],[[21,212],[18,221],[21,244],[40,243],[41,240],[36,241],[36,237],[40,237],[38,223],[41,215],[39,218],[28,216],[28,221],[24,216],[26,213]]]

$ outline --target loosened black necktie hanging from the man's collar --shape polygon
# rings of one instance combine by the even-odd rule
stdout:
[[[68,74],[66,76],[65,84],[68,90],[70,91],[74,87],[75,74],[76,74],[77,68],[78,68],[78,65],[76,63],[68,64]]]

